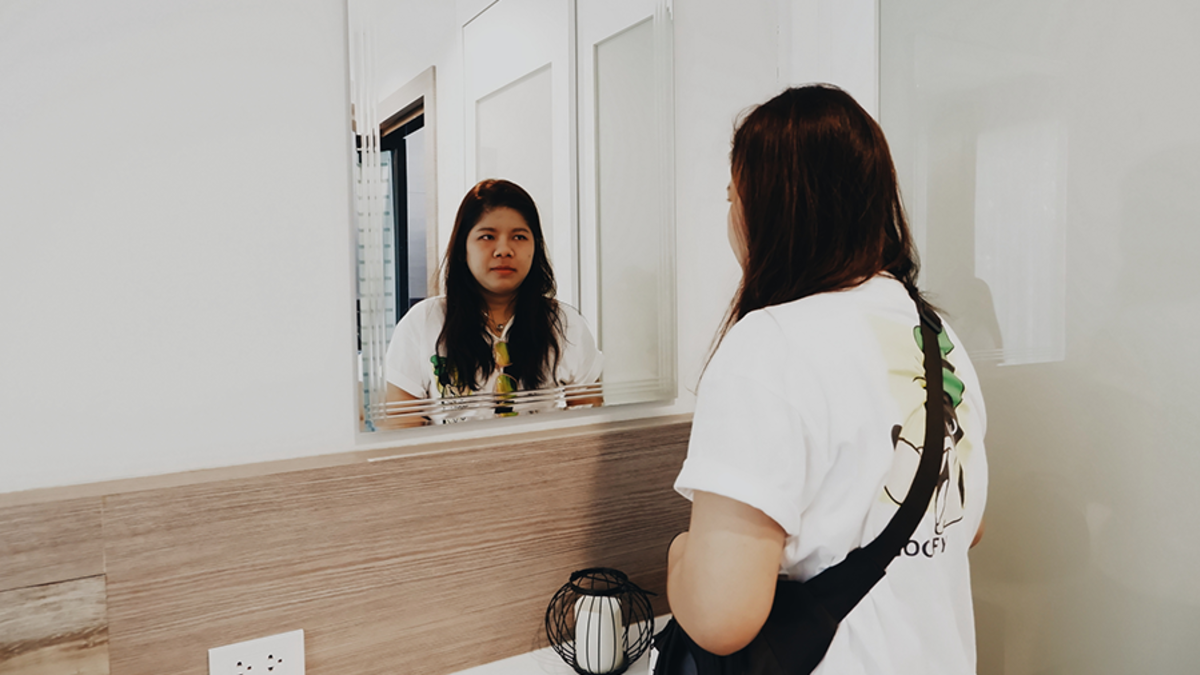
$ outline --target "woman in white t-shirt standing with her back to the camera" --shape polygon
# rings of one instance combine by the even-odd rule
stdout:
[[[875,120],[833,86],[790,89],[742,121],[731,160],[743,276],[676,482],[692,513],[667,581],[679,626],[718,655],[758,633],[778,575],[809,580],[887,525],[925,404],[917,259]],[[958,338],[947,328],[938,344],[950,432],[937,491],[816,673],[974,673],[984,407]]]

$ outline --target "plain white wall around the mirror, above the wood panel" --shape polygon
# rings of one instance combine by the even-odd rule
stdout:
[[[94,5],[0,14],[0,90],[22,92],[0,98],[0,494],[494,434],[355,435],[344,5]],[[509,429],[692,410],[738,279],[733,121],[786,83],[780,16],[804,6],[674,6],[677,401]],[[457,5],[427,10],[379,17],[379,53],[420,48],[385,40],[389,22],[452,37]],[[427,65],[380,70],[380,92]],[[448,114],[461,88],[439,77]],[[439,184],[461,181],[461,145],[439,135],[438,149]],[[457,199],[439,197],[443,223]]]

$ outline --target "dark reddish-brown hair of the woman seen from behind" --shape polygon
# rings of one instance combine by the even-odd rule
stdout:
[[[917,252],[880,125],[828,84],[788,89],[733,133],[746,259],[716,341],[754,310],[886,271],[918,301]]]

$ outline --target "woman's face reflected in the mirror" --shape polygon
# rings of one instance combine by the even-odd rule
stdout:
[[[521,214],[500,207],[484,214],[467,234],[467,267],[485,294],[511,297],[529,275],[534,247],[533,231]]]

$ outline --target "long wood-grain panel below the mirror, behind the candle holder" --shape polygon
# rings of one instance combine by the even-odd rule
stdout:
[[[103,561],[110,673],[204,675],[209,647],[296,628],[311,675],[454,673],[545,646],[551,596],[594,566],[667,611],[690,424],[598,429],[107,495],[101,548],[72,550]],[[62,510],[0,522],[20,508]]]

